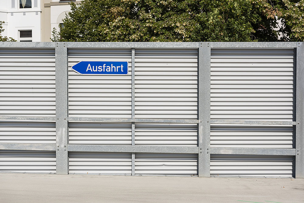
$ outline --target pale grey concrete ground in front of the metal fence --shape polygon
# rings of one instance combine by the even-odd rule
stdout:
[[[304,179],[0,174],[0,202],[304,202]]]

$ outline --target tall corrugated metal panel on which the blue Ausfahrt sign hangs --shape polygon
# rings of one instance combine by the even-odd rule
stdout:
[[[80,75],[79,61],[128,61],[128,75]],[[131,49],[68,49],[70,117],[131,118]]]

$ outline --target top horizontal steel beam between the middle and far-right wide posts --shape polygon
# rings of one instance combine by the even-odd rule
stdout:
[[[211,48],[295,48],[297,42],[211,42]]]

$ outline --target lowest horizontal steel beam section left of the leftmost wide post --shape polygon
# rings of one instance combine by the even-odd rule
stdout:
[[[55,151],[55,144],[19,144],[0,143],[0,150],[35,150],[35,151]]]

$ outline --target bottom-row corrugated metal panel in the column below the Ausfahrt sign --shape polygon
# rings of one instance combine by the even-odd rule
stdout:
[[[131,153],[69,152],[69,173],[131,174]]]

